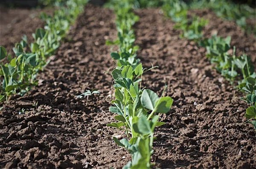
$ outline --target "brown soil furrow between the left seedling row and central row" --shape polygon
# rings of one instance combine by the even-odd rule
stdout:
[[[44,72],[39,85],[4,105],[0,115],[0,167],[106,168],[123,166],[130,157],[119,149],[106,126],[113,99],[108,69],[115,63],[105,40],[116,37],[112,11],[87,5],[66,42]],[[86,89],[101,94],[76,98]],[[38,108],[32,106],[38,102]],[[24,108],[25,112],[19,115]],[[125,159],[123,159],[124,157]]]

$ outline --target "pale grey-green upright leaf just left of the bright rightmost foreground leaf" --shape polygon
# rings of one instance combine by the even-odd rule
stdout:
[[[157,96],[157,94],[155,92],[153,92],[152,90],[149,90],[149,89],[145,89],[142,92],[140,101],[141,101],[143,107],[145,107],[146,109],[154,110],[158,99],[159,99],[159,97]]]

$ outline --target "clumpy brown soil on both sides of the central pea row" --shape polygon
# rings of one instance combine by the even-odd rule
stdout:
[[[237,54],[245,51],[255,61],[253,35],[210,11],[201,12],[215,18],[209,20],[205,35],[215,30],[221,36],[231,35]],[[255,132],[244,123],[248,105],[233,98],[236,89],[212,68],[205,49],[180,39],[175,23],[159,14],[159,9],[141,9],[136,14],[140,16],[134,26],[138,57],[144,67],[159,66],[144,75],[143,86],[160,95],[168,85],[166,95],[175,100],[170,112],[160,115],[166,124],[155,132],[154,166],[255,168]],[[106,46],[105,40],[115,38],[113,11],[87,5],[38,75],[39,85],[3,105],[0,168],[119,169],[131,159],[112,140],[125,133],[106,126],[114,121],[108,111],[113,99],[108,72],[115,66],[110,57],[115,48]],[[76,97],[86,89],[101,92],[89,97],[87,105],[86,99]]]

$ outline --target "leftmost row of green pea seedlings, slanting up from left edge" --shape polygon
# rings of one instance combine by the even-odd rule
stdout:
[[[0,102],[8,102],[14,94],[24,95],[38,84],[36,75],[49,63],[49,57],[55,54],[86,3],[86,0],[67,0],[65,3],[56,3],[58,10],[52,16],[41,13],[40,17],[45,22],[44,29],[36,29],[32,34],[34,41],[30,44],[26,35],[23,36],[13,48],[15,57],[7,54],[6,49],[0,46],[0,75],[3,77]]]

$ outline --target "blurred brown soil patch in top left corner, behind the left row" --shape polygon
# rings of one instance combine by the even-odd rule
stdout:
[[[52,9],[8,9],[0,7],[0,45],[12,51],[15,43],[26,35],[32,42],[32,33],[43,28],[44,22],[38,17],[40,12],[52,13]]]

